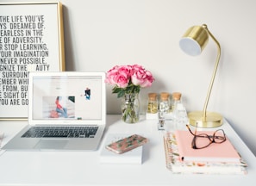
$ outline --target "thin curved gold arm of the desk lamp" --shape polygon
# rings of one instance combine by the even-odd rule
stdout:
[[[213,84],[214,84],[214,81],[215,81],[215,74],[216,74],[216,71],[217,71],[217,68],[218,68],[218,65],[219,65],[219,62],[220,62],[220,58],[221,58],[221,46],[220,46],[220,43],[215,39],[213,34],[211,34],[209,32],[209,29],[207,28],[207,26],[203,25],[203,28],[205,28],[205,30],[208,32],[209,36],[215,41],[215,44],[216,44],[217,50],[218,50],[217,51],[217,57],[215,59],[215,68],[214,68],[214,71],[213,71],[213,74],[212,74],[212,78],[211,78],[211,81],[210,81],[210,84],[209,84],[209,90],[208,90],[206,100],[205,100],[205,103],[204,103],[204,106],[203,106],[203,121],[206,121],[206,109],[207,109],[208,102],[209,102],[209,96],[210,96],[210,93],[211,93],[211,90],[212,90],[212,87],[213,87]]]

